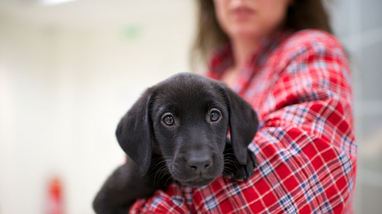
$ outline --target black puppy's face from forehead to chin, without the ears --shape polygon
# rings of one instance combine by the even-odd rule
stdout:
[[[229,114],[221,87],[178,78],[154,91],[151,119],[168,171],[183,184],[206,185],[224,167]]]

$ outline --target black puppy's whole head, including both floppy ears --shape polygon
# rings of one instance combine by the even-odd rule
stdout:
[[[141,174],[156,153],[175,180],[200,186],[223,171],[228,127],[234,155],[245,164],[257,125],[251,106],[220,82],[179,74],[147,89],[123,116],[116,135]]]

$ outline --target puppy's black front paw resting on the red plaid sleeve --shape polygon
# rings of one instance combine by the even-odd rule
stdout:
[[[257,167],[257,160],[252,151],[248,150],[247,153],[247,163],[244,165],[236,159],[231,145],[227,144],[224,150],[223,176],[237,181],[243,181],[252,176],[254,168]]]

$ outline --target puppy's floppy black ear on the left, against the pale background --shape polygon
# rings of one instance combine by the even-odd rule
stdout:
[[[150,168],[152,156],[152,125],[150,105],[152,89],[147,89],[122,117],[116,130],[119,145],[137,164],[142,175]]]

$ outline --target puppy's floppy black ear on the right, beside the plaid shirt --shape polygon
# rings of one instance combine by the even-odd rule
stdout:
[[[229,127],[231,144],[236,159],[242,164],[247,163],[247,147],[256,134],[259,121],[256,112],[239,94],[226,86],[223,89],[227,95],[229,108]]]

